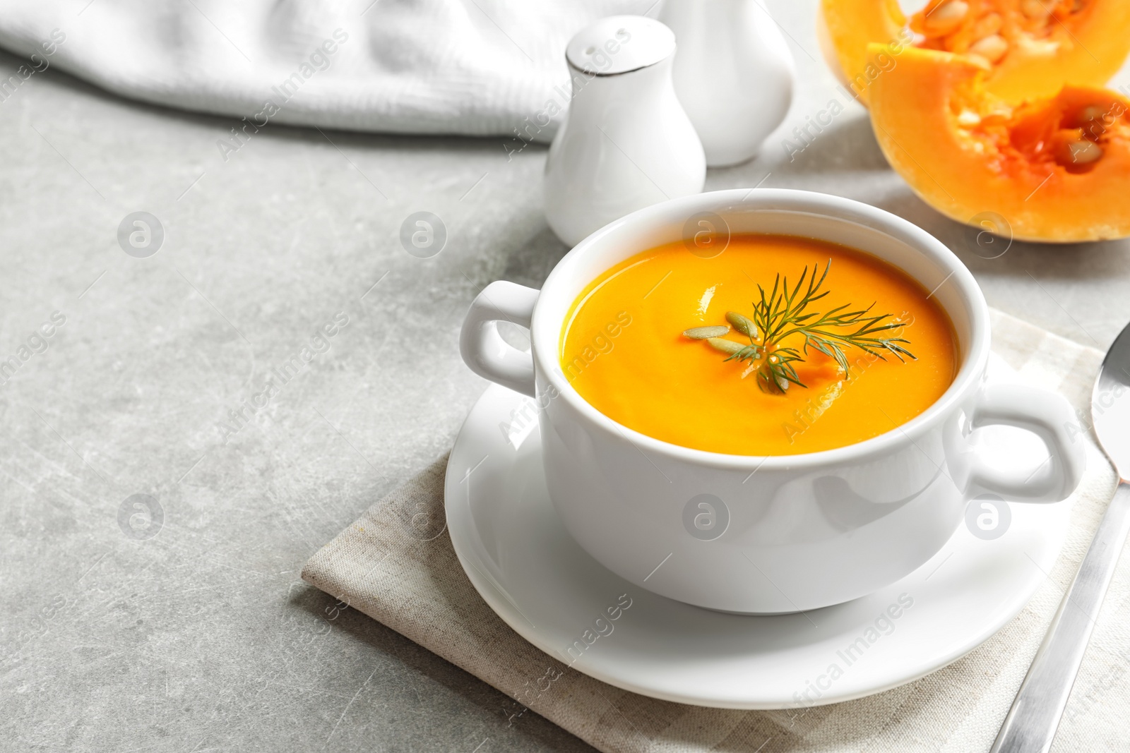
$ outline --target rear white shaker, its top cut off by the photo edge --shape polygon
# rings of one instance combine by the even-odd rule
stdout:
[[[711,167],[757,156],[792,103],[792,54],[760,0],[666,0],[675,90]]]

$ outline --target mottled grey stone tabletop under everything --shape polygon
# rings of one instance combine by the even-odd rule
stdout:
[[[1130,318],[1127,243],[983,259],[854,104],[786,156],[843,95],[810,8],[775,5],[800,95],[762,157],[709,187],[889,209],[992,305],[1105,347]],[[539,205],[545,149],[272,126],[225,160],[232,125],[53,70],[0,103],[0,748],[590,750],[298,579],[451,445],[484,387],[457,354],[476,292],[537,286],[565,253]],[[432,259],[399,242],[420,210],[447,229]],[[146,257],[118,239],[137,211],[164,229]]]

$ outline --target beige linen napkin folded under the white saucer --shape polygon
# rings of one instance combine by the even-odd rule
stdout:
[[[1099,351],[998,312],[992,326],[994,351],[1025,380],[1058,389],[1087,410]],[[1087,426],[1084,418],[1088,467],[1067,543],[1024,611],[948,667],[844,703],[780,711],[683,706],[612,688],[542,654],[496,616],[463,575],[442,527],[446,458],[373,505],[311,558],[302,577],[507,695],[531,698],[531,710],[601,751],[986,751],[1116,484]],[[420,515],[436,522],[424,535],[412,525],[425,519]],[[1106,597],[1054,751],[1124,750],[1127,560]],[[553,692],[536,699],[523,692],[550,667],[564,673]]]

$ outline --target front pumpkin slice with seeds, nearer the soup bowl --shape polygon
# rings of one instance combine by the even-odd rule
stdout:
[[[869,54],[878,64],[893,53]],[[904,50],[870,89],[890,166],[960,222],[999,216],[1026,240],[1130,236],[1130,99],[1068,86],[1014,106],[986,91],[991,75],[966,55]]]

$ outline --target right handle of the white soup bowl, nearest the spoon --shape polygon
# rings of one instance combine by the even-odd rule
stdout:
[[[1025,429],[1043,439],[1051,457],[1051,472],[1033,481],[1034,472],[992,466],[977,453],[965,453],[959,464],[958,487],[966,499],[983,493],[999,494],[1018,502],[1058,502],[1079,485],[1087,455],[1081,432],[1071,431],[1077,419],[1061,395],[1019,384],[989,384],[982,387],[970,415],[970,429],[1003,424]],[[964,479],[964,484],[962,483]]]

